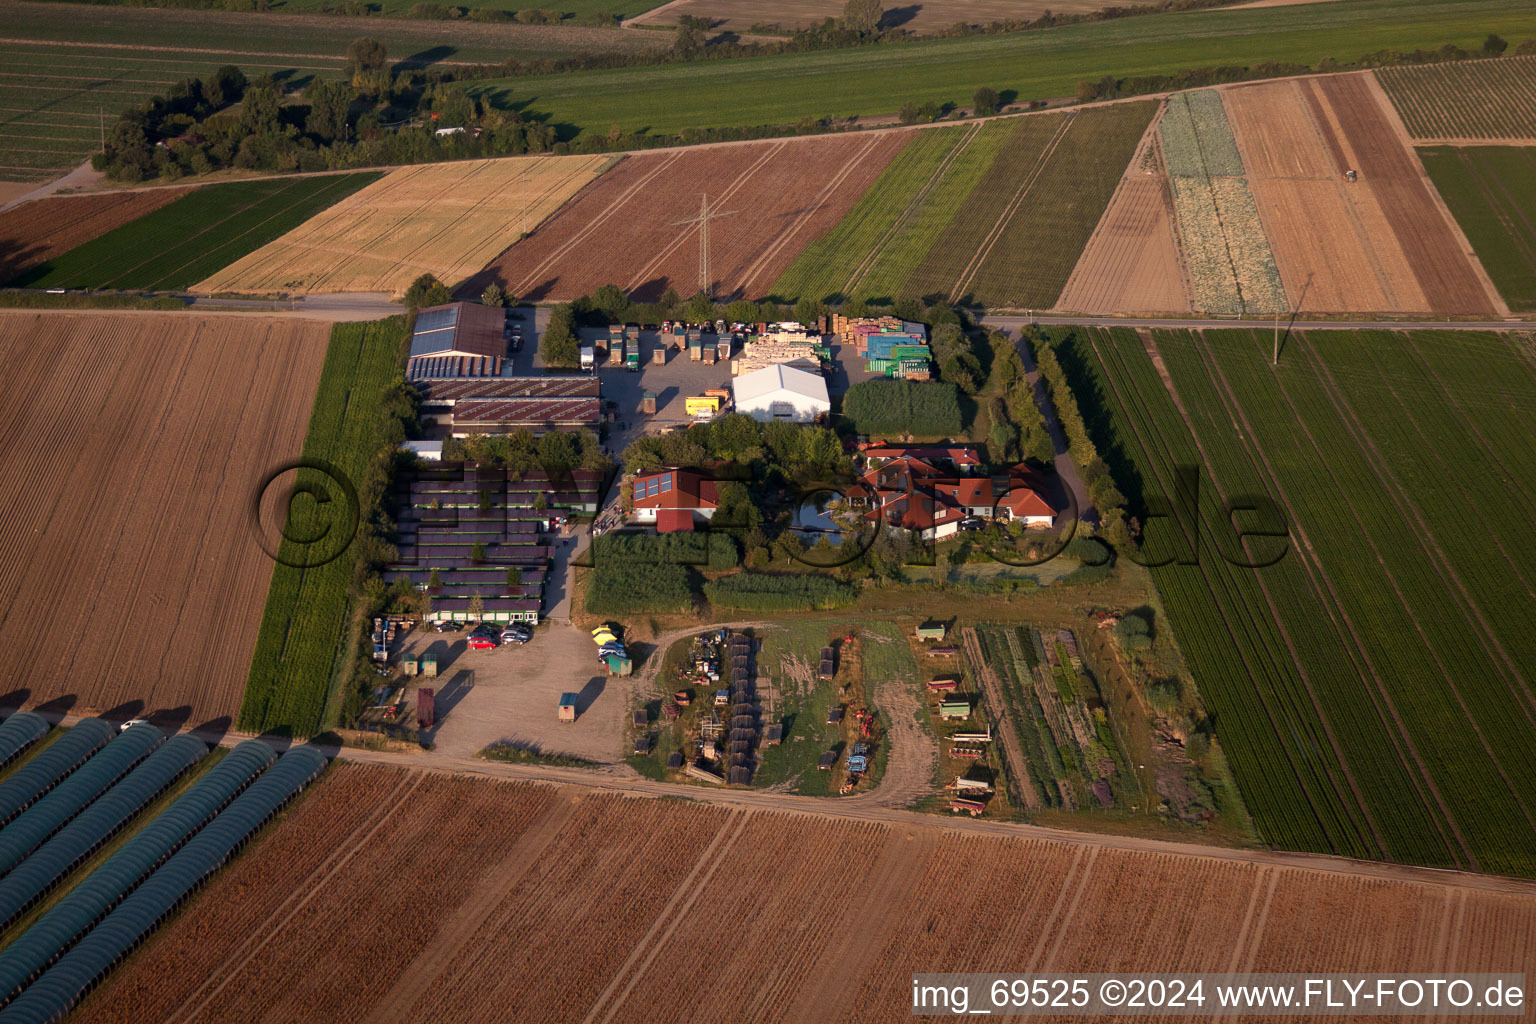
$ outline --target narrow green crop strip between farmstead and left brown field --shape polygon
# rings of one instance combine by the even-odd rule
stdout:
[[[315,408],[304,436],[304,459],[336,467],[361,482],[384,436],[384,393],[406,364],[410,344],[407,318],[366,324],[338,324],[330,333]],[[339,499],[336,484],[319,470],[296,471],[296,488]],[[296,491],[295,491],[296,493]],[[353,562],[338,554],[310,557],[309,548],[287,537],[321,537],[338,528],[318,502],[295,502],[295,520],[284,530],[278,565],[272,571],[261,633],[250,656],[250,677],[240,708],[240,728],[250,732],[283,731],[313,735],[326,725],[326,705],[336,688],[335,674],[347,645],[347,590]],[[303,520],[312,519],[312,520]],[[306,562],[323,562],[309,568]]]

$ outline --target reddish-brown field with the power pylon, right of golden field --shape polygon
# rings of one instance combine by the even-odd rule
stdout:
[[[831,230],[912,132],[823,135],[630,157],[459,289],[490,282],[531,299],[604,284],[653,301],[699,290],[700,200],[710,201],[716,298],[762,298]]]

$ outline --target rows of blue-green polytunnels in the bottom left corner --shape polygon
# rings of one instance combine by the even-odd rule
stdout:
[[[0,723],[0,765],[12,742],[20,754],[48,731],[46,722],[37,732],[23,720],[8,732],[20,715],[37,718],[17,712]],[[206,755],[207,745],[190,735],[166,740],[147,723],[118,734],[86,718],[0,781],[0,815],[8,815],[0,927],[37,906]],[[63,1019],[326,761],[313,748],[280,757],[257,740],[235,746],[0,950],[0,1022]]]

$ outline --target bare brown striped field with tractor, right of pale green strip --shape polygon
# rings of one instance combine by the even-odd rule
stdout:
[[[1369,75],[1223,97],[1292,309],[1507,312]]]

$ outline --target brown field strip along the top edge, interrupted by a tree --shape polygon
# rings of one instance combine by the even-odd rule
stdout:
[[[992,21],[1031,21],[1046,11],[1083,14],[1111,6],[1103,0],[923,0],[911,5],[886,5],[882,26],[905,32],[948,29],[957,21],[991,25]],[[751,32],[754,25],[803,29],[822,25],[843,14],[843,0],[682,0],[664,3],[636,15],[627,25],[677,25],[682,15],[710,18],[716,31]]]

